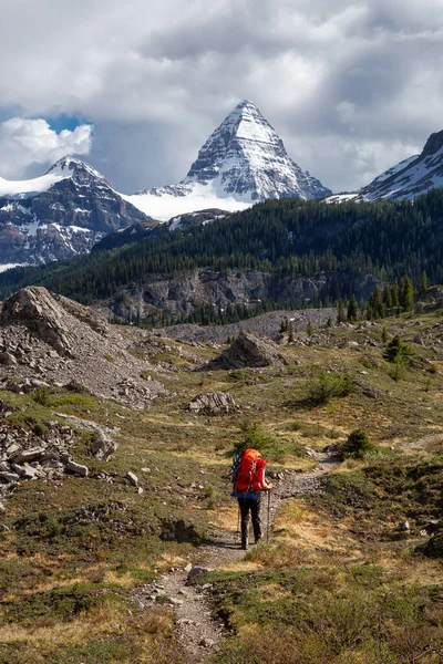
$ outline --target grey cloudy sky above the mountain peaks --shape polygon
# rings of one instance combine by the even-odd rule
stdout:
[[[0,176],[174,183],[243,98],[334,191],[443,129],[442,0],[0,0]]]

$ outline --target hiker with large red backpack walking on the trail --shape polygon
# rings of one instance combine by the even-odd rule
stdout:
[[[245,449],[235,461],[233,481],[241,515],[241,549],[248,548],[249,511],[253,518],[255,543],[261,538],[260,494],[270,491],[272,483],[265,478],[266,461],[256,449]]]

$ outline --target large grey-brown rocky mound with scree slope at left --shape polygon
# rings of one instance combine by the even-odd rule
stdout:
[[[127,338],[100,314],[44,288],[22,289],[3,303],[0,363],[7,381],[20,380],[23,391],[44,378],[147,407],[166,390],[142,377],[153,366],[128,351]]]

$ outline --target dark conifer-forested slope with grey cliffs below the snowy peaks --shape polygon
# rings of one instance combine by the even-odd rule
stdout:
[[[442,283],[442,210],[439,189],[414,205],[268,200],[206,225],[173,231],[162,225],[145,241],[113,251],[11,270],[0,274],[0,298],[42,284],[84,303],[101,301],[122,318],[126,311],[165,324],[200,308],[210,309],[212,322],[218,308],[229,315],[240,308],[244,317],[251,307],[320,305],[351,292],[365,298],[374,280],[409,274],[419,284],[423,270]]]

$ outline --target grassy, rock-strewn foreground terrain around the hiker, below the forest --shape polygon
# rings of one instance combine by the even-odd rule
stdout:
[[[0,662],[440,664],[440,295],[384,321],[271,312],[229,344],[7,300]],[[244,446],[275,485],[247,552]]]

